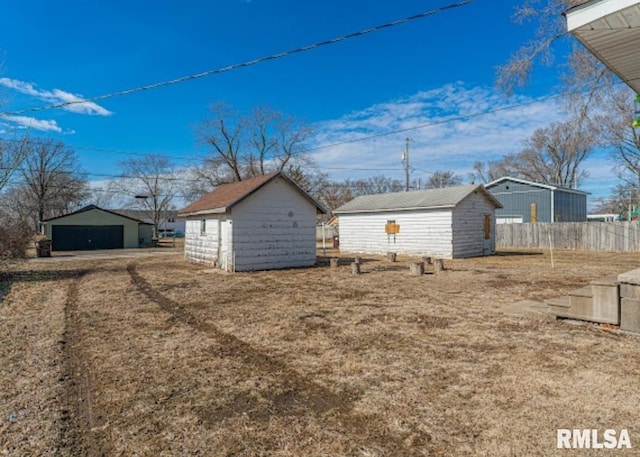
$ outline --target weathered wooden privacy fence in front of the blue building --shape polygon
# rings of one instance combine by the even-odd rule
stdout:
[[[554,248],[578,251],[640,251],[636,222],[498,224],[498,248]]]

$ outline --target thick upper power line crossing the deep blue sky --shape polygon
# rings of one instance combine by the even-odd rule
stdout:
[[[157,82],[157,83],[153,83],[153,84],[147,84],[147,85],[144,85],[144,86],[132,87],[130,89],[120,90],[120,91],[117,91],[117,92],[111,92],[111,93],[103,94],[103,95],[97,95],[95,97],[90,97],[90,98],[85,98],[85,99],[80,99],[80,100],[70,100],[70,101],[66,101],[66,102],[63,102],[63,103],[55,103],[55,104],[51,104],[51,105],[39,106],[39,107],[34,107],[34,108],[27,108],[27,109],[22,109],[22,110],[17,110],[17,111],[9,111],[9,112],[5,112],[5,113],[0,113],[0,117],[3,117],[3,116],[14,116],[14,115],[18,115],[18,114],[31,113],[31,112],[36,112],[36,111],[45,111],[45,110],[56,109],[56,108],[64,108],[66,106],[77,105],[77,104],[82,104],[82,103],[87,103],[87,102],[96,102],[96,101],[99,101],[99,100],[105,100],[107,98],[120,97],[120,96],[123,96],[123,95],[130,95],[130,94],[134,94],[136,92],[153,90],[153,89],[157,89],[159,87],[171,86],[171,85],[183,83],[185,81],[191,81],[191,80],[195,80],[195,79],[204,78],[204,77],[207,77],[207,76],[217,75],[217,74],[220,74],[220,73],[226,73],[228,71],[236,70],[238,68],[250,67],[250,66],[262,63],[262,62],[267,62],[269,60],[281,59],[283,57],[287,57],[287,56],[290,56],[292,54],[298,54],[298,53],[310,51],[310,50],[315,49],[315,48],[336,44],[336,43],[339,43],[341,41],[346,41],[346,40],[349,40],[349,39],[352,39],[352,38],[356,38],[356,37],[359,37],[359,36],[363,36],[363,35],[367,35],[367,34],[370,34],[370,33],[373,33],[373,32],[377,32],[377,31],[382,30],[382,29],[396,27],[398,25],[402,25],[402,24],[405,24],[407,22],[415,21],[417,19],[423,19],[423,18],[428,17],[428,16],[434,16],[436,14],[442,13],[442,12],[447,11],[447,10],[460,8],[462,6],[465,6],[465,5],[468,5],[470,3],[473,3],[474,1],[475,0],[464,0],[464,1],[461,1],[461,2],[458,2],[458,3],[452,3],[452,4],[449,4],[449,5],[446,5],[446,6],[442,6],[442,7],[439,7],[439,8],[435,8],[435,9],[431,9],[431,10],[428,10],[428,11],[424,11],[422,13],[418,13],[418,14],[415,14],[413,16],[408,16],[408,17],[405,17],[405,18],[402,18],[402,19],[397,19],[395,21],[387,22],[385,24],[381,24],[381,25],[377,25],[377,26],[374,26],[374,27],[370,27],[368,29],[360,30],[359,32],[353,32],[353,33],[342,35],[342,36],[339,36],[339,37],[336,37],[336,38],[332,38],[332,39],[329,39],[329,40],[319,41],[319,42],[316,42],[316,43],[313,43],[313,44],[309,44],[309,45],[306,45],[306,46],[301,46],[299,48],[290,49],[290,50],[284,51],[284,52],[279,52],[277,54],[271,54],[271,55],[266,56],[266,57],[260,57],[258,59],[250,60],[248,62],[228,65],[226,67],[217,68],[215,70],[207,70],[207,71],[203,71],[201,73],[195,73],[195,74],[191,74],[191,75],[187,75],[187,76],[181,76],[179,78],[175,78],[175,79],[171,79],[171,80],[167,80],[167,81],[161,81],[161,82]]]

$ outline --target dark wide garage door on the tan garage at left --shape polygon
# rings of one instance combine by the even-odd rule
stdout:
[[[51,231],[54,251],[122,249],[123,225],[54,225]]]

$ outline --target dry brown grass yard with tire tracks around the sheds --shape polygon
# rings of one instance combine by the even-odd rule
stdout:
[[[226,274],[162,257],[0,279],[0,455],[640,455],[640,337],[498,313],[640,267],[502,252]],[[627,429],[627,451],[556,449]]]

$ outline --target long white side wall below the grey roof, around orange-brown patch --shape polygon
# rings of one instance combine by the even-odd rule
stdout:
[[[451,210],[397,211],[341,214],[340,250],[345,252],[431,255],[451,258]],[[400,232],[387,235],[385,225],[394,220]]]

